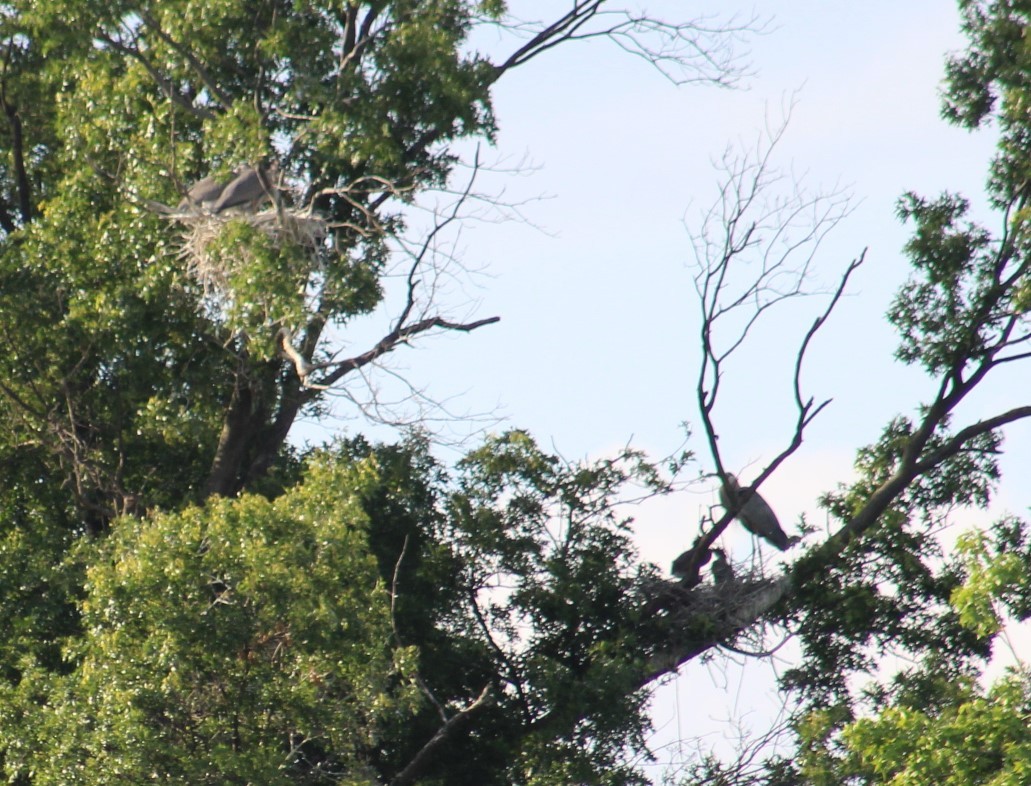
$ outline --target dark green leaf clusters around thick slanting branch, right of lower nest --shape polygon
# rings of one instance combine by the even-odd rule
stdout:
[[[947,421],[946,421],[947,422]],[[859,451],[859,480],[827,494],[822,504],[849,522],[899,470],[912,424],[894,419],[874,445]],[[933,452],[947,432],[930,439]],[[992,451],[953,456],[937,471],[912,481],[862,538],[827,562],[818,553],[800,559],[792,618],[804,658],[785,675],[812,707],[850,705],[850,678],[872,670],[885,648],[910,658],[935,654],[942,668],[961,674],[970,658],[986,656],[990,641],[961,624],[951,603],[965,567],[928,536],[941,512],[987,503],[998,476]]]

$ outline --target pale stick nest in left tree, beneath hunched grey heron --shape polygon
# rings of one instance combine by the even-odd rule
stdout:
[[[203,210],[175,212],[171,220],[182,227],[179,257],[187,273],[203,288],[205,296],[231,297],[234,271],[247,265],[253,255],[245,244],[227,254],[220,240],[231,222],[245,222],[269,238],[274,248],[294,247],[317,257],[329,235],[326,219],[311,210],[270,207],[257,212],[211,214]]]

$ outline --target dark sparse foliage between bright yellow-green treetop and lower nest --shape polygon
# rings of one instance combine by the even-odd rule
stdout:
[[[380,570],[400,569],[399,586],[411,588],[400,638],[424,636],[421,674],[440,700],[508,686],[439,782],[637,782],[623,751],[643,744],[647,725],[640,660],[651,643],[637,600],[647,574],[616,505],[630,485],[662,491],[654,468],[633,453],[565,464],[514,431],[472,451],[432,492],[423,484],[439,469],[421,451],[375,455],[381,471],[393,467],[386,477],[404,478],[368,505]],[[412,518],[431,497],[437,512]]]

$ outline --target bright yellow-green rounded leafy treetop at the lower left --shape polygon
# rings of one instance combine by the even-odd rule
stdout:
[[[22,681],[4,724],[34,783],[344,783],[412,708],[367,551],[368,462],[312,464],[269,502],[119,520],[90,555],[66,677]],[[33,706],[37,705],[37,706]],[[26,727],[33,729],[26,734]],[[68,733],[59,732],[65,729]]]

